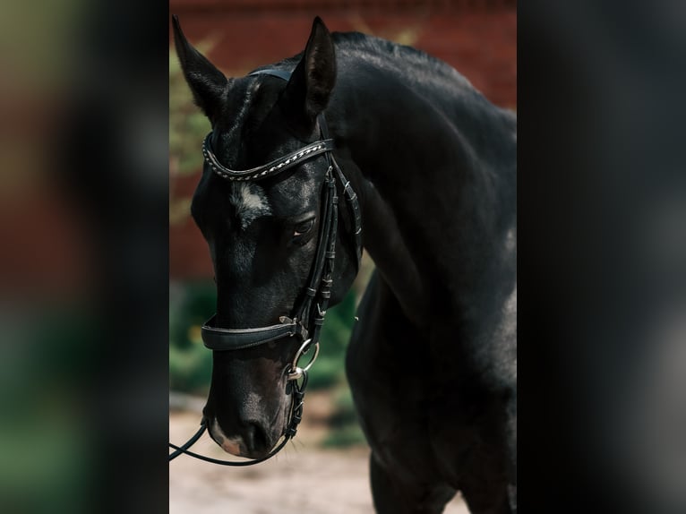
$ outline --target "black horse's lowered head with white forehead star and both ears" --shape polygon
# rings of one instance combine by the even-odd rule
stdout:
[[[218,293],[216,317],[203,328],[213,349],[204,421],[228,453],[263,458],[287,430],[294,356],[307,344],[308,331],[312,336],[312,320],[298,316],[322,311],[321,291],[312,292],[319,284],[311,281],[332,227],[324,214],[331,204],[331,167],[316,143],[323,139],[321,115],[336,82],[333,41],[317,18],[304,52],[275,65],[283,77],[227,79],[188,43],[176,19],[174,35],[185,79],[212,127],[191,208],[210,247]],[[342,299],[356,276],[355,249],[337,241],[342,232],[332,242],[339,251],[327,255],[332,281],[324,296],[330,295],[330,304]],[[213,338],[219,341],[214,346],[208,343]]]

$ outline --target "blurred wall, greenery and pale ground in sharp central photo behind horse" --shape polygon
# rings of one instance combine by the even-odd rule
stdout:
[[[331,31],[356,30],[422,49],[455,67],[496,105],[516,108],[514,1],[171,0],[169,9],[193,46],[229,77],[301,52],[320,15]],[[169,45],[170,433],[179,443],[196,430],[209,390],[211,352],[202,346],[200,327],[214,312],[216,293],[207,244],[190,218],[202,171],[199,149],[210,124],[193,106],[171,27]],[[169,468],[170,512],[372,511],[368,450],[344,371],[356,305],[372,270],[365,254],[354,287],[327,314],[296,440],[269,462],[230,472],[176,459]],[[199,448],[227,457],[208,436]],[[307,476],[312,485],[304,500],[287,493],[294,476]],[[464,504],[458,498],[447,511],[463,512]]]

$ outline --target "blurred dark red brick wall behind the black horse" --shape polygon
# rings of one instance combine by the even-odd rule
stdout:
[[[412,46],[455,67],[496,105],[517,104],[517,12],[511,0],[170,0],[169,10],[193,44],[213,40],[208,56],[229,74],[301,52],[313,17],[320,15],[330,30],[372,31],[387,39],[414,30]],[[180,180],[176,194],[190,197],[197,180]],[[172,277],[211,277],[207,244],[190,218],[170,228],[169,244]]]

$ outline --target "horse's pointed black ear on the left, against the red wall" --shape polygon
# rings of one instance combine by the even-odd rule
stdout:
[[[176,14],[172,16],[172,21],[174,46],[185,81],[193,92],[195,104],[213,121],[219,114],[220,103],[227,90],[227,77],[185,39]]]

